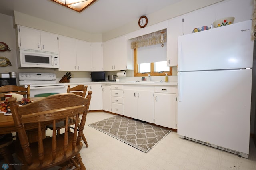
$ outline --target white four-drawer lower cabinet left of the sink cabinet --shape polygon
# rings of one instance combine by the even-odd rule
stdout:
[[[112,112],[124,115],[124,91],[123,85],[111,85]]]

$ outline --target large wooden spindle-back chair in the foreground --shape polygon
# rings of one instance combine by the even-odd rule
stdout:
[[[63,166],[62,169],[72,168],[85,170],[80,156],[82,149],[82,131],[84,129],[91,91],[86,98],[70,94],[56,94],[34,101],[28,105],[18,106],[16,97],[10,97],[10,109],[14,124],[18,131],[16,155],[22,161],[22,170],[44,170],[54,166]],[[79,131],[68,132],[69,117],[76,117],[75,127],[78,126],[79,114],[82,119]],[[56,135],[56,122],[66,119],[65,132]],[[53,124],[52,137],[42,138],[41,123]],[[38,125],[38,142],[29,143],[24,126],[26,123]],[[20,144],[19,144],[20,143]],[[57,147],[58,146],[58,147]]]

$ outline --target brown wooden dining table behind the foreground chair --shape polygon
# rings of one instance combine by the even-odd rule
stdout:
[[[30,100],[37,101],[40,99],[43,99],[45,97],[32,97]],[[4,102],[4,101],[1,101]],[[45,134],[45,127],[46,125],[51,124],[52,122],[42,122],[41,123],[41,131],[43,134]],[[28,133],[29,137],[29,142],[35,142],[37,141],[37,136],[38,136],[38,124],[37,123],[26,123],[25,129]],[[12,115],[4,115],[4,113],[0,113],[0,134],[7,134],[7,133],[12,133],[12,132],[17,132],[17,129],[14,125],[14,121],[12,118]],[[45,136],[45,135],[44,135]]]

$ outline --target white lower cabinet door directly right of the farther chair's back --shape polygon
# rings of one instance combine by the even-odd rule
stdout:
[[[89,110],[102,110],[102,85],[88,85],[87,91],[92,91],[92,99]]]

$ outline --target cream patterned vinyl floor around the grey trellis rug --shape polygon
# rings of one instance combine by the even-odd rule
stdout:
[[[87,126],[112,116],[104,112],[87,115],[84,134],[89,147],[84,146],[80,151],[87,170],[256,170],[256,148],[252,139],[248,159],[179,138],[173,131],[144,153]]]

